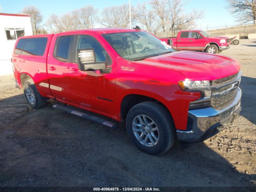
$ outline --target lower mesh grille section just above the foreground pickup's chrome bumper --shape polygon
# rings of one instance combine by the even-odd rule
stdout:
[[[215,109],[225,108],[231,102],[233,102],[234,97],[236,96],[237,88],[230,90],[228,92],[224,92],[222,94],[216,95],[216,98],[212,100],[212,107]]]

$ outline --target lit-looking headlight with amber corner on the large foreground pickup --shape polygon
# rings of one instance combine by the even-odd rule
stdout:
[[[210,86],[210,81],[190,81],[185,79],[185,81],[180,81],[179,86],[182,90],[200,90],[200,88]]]

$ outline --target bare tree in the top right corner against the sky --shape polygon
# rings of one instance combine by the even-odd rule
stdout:
[[[228,10],[242,22],[253,21],[256,27],[256,0],[228,0]]]

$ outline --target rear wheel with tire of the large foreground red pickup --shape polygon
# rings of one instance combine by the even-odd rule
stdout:
[[[39,109],[46,104],[46,100],[48,98],[42,97],[38,90],[36,89],[36,86],[34,82],[32,81],[26,81],[23,86],[24,95],[25,98],[33,109]]]

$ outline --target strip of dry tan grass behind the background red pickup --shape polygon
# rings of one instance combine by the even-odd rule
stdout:
[[[254,27],[254,25],[251,24],[246,26],[235,26],[222,29],[208,30],[208,32],[212,35],[239,34],[240,38],[247,38],[249,33],[256,33],[256,26]]]

